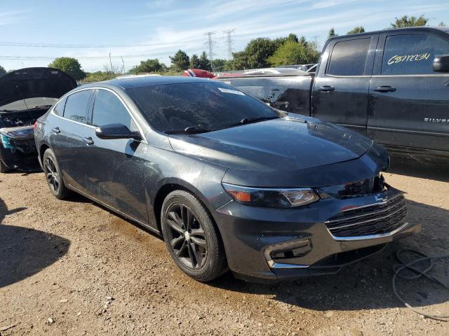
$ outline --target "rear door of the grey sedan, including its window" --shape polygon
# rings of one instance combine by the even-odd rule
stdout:
[[[93,90],[81,90],[70,94],[58,103],[51,118],[50,144],[65,181],[86,192],[86,161],[83,160],[87,149],[85,133],[87,113],[91,106]],[[62,104],[62,106],[60,106]]]

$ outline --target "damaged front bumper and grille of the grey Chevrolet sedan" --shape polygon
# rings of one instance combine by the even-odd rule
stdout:
[[[214,218],[222,235],[229,268],[243,279],[280,280],[299,276],[333,274],[344,265],[377,253],[385,244],[420,232],[420,225],[410,225],[396,205],[391,214],[381,208],[393,200],[402,198],[401,192],[389,187],[382,193],[349,199],[326,197],[319,202],[297,209],[268,209],[248,207],[232,201],[214,212]],[[339,218],[344,211],[371,209],[379,204],[373,214],[376,220],[367,220],[362,214],[350,218],[351,230],[357,232],[354,221],[369,235],[358,232],[345,237],[332,228],[332,218]],[[405,207],[405,205],[403,205]],[[388,210],[389,211],[389,210]],[[356,214],[356,213],[355,213]],[[387,216],[386,216],[387,214]],[[339,217],[340,216],[340,217]],[[362,221],[363,220],[363,221]],[[351,222],[352,221],[352,222]],[[391,222],[385,232],[373,231],[370,226]],[[341,225],[344,226],[344,225]],[[334,231],[333,231],[334,230]],[[342,229],[343,230],[343,229]],[[344,231],[342,231],[344,232]]]

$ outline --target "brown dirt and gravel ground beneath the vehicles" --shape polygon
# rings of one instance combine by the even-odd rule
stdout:
[[[59,201],[43,174],[0,174],[0,334],[7,335],[449,335],[394,297],[394,253],[449,251],[448,166],[394,161],[384,174],[405,191],[420,235],[335,276],[262,285],[225,274],[185,276],[163,241],[80,196]],[[431,272],[448,283],[448,262]],[[399,281],[410,303],[449,314],[429,281]]]

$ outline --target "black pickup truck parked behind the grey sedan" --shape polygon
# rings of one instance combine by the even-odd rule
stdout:
[[[326,42],[316,73],[219,75],[277,109],[356,130],[390,151],[449,158],[449,29],[391,29]]]

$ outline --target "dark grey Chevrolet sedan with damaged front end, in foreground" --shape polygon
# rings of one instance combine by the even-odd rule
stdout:
[[[337,272],[420,230],[360,134],[188,77],[121,78],[66,94],[36,123],[51,193],[69,190],[160,235],[209,281]]]

